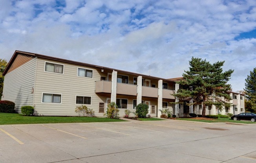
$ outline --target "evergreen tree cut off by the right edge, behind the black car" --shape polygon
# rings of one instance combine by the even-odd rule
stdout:
[[[245,109],[256,112],[256,68],[250,71],[250,75],[245,79],[244,90],[248,99]]]

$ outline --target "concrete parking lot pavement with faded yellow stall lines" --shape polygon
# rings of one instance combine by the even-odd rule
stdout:
[[[0,125],[0,163],[255,163],[256,124]]]

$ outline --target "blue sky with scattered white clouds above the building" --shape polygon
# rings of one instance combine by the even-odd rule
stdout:
[[[15,50],[161,78],[225,60],[242,90],[256,67],[255,0],[1,0],[0,58]]]

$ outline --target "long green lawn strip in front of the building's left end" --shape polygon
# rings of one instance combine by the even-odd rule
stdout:
[[[0,125],[35,124],[35,123],[88,123],[88,122],[117,122],[110,118],[98,117],[54,117],[54,116],[23,116],[22,114],[1,113]]]

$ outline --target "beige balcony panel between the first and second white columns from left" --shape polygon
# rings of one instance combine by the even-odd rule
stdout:
[[[137,85],[117,83],[117,94],[137,95]]]

